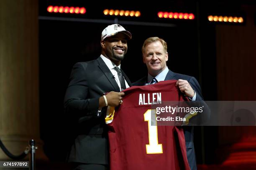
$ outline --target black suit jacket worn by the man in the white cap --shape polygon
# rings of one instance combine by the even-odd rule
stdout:
[[[122,71],[125,80],[131,81]],[[97,60],[74,65],[64,98],[64,110],[77,122],[69,162],[108,164],[108,134],[104,109],[98,114],[103,93],[120,88],[105,62]]]

